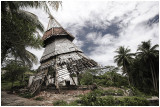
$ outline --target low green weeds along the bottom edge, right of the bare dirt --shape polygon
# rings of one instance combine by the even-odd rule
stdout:
[[[147,106],[148,101],[144,97],[113,97],[104,96],[105,91],[95,90],[86,95],[82,95],[80,100],[67,103],[66,101],[56,101],[54,106]]]

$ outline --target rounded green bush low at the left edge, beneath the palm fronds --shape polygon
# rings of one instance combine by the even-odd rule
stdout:
[[[17,89],[27,86],[30,75],[35,73],[25,66],[21,61],[7,61],[5,68],[6,73],[1,75],[2,90],[11,90],[14,87]],[[14,90],[14,89],[13,89]]]

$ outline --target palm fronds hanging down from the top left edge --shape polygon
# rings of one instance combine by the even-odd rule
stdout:
[[[1,11],[2,13],[8,13],[8,12],[15,13],[21,10],[22,8],[31,7],[31,8],[41,8],[46,13],[51,15],[48,5],[57,11],[59,6],[62,5],[62,2],[61,1],[2,1]]]

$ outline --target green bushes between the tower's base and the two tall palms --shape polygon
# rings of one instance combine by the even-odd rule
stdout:
[[[118,68],[114,66],[106,66],[105,73],[101,74],[101,70],[88,70],[81,76],[80,83],[82,85],[92,85],[96,83],[99,86],[128,86],[127,77],[118,72]],[[97,75],[98,74],[98,75]]]

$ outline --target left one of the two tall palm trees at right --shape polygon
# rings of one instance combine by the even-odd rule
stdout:
[[[120,67],[123,67],[123,74],[127,74],[128,76],[128,83],[130,85],[130,80],[129,80],[129,71],[128,71],[128,67],[129,65],[132,63],[132,56],[134,56],[133,53],[129,53],[131,50],[128,48],[124,48],[124,46],[120,46],[115,52],[118,53],[118,55],[116,55],[114,57],[114,62],[117,63],[117,65]]]

